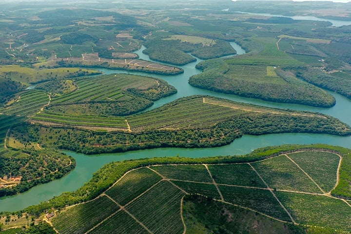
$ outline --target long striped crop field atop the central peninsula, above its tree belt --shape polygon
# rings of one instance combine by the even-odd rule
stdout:
[[[103,85],[101,85],[102,87]],[[81,88],[80,90],[83,90]],[[88,91],[80,91],[87,93],[86,97],[94,97],[94,93]],[[97,94],[101,96],[101,94]],[[53,102],[64,102],[71,101],[71,98],[78,98],[82,100],[83,97],[79,95],[69,95],[69,97],[57,98]],[[85,96],[84,96],[85,97]],[[77,100],[76,100],[77,101]],[[59,107],[63,108],[63,107]],[[64,108],[63,108],[64,109]],[[134,116],[127,117],[98,117],[98,116],[77,116],[70,115],[67,113],[58,113],[58,109],[48,108],[43,110],[37,115],[31,117],[32,122],[39,122],[44,125],[58,125],[58,126],[76,126],[85,129],[100,129],[104,131],[126,131],[133,133],[140,133],[150,130],[181,130],[181,129],[211,129],[215,125],[225,123],[227,121],[240,122],[238,124],[238,130],[250,123],[251,118],[256,118],[257,123],[265,118],[270,118],[273,121],[274,118],[284,117],[284,121],[292,121],[292,125],[296,125],[293,122],[301,123],[309,122],[309,131],[313,132],[312,124],[314,123],[316,128],[325,129],[318,131],[330,131],[327,129],[334,129],[334,132],[340,132],[343,135],[348,134],[349,126],[341,123],[339,120],[332,117],[328,117],[322,114],[298,112],[291,110],[273,109],[268,107],[256,106],[251,104],[243,104],[239,102],[229,101],[221,98],[207,97],[207,96],[194,96],[190,98],[181,98],[170,104],[159,107],[152,111],[142,113]],[[213,115],[212,113],[216,113]],[[269,121],[264,120],[263,125],[267,125]],[[323,123],[323,124],[321,124]],[[283,123],[279,123],[280,125]],[[285,123],[284,123],[285,124]],[[292,126],[290,125],[290,127]],[[330,126],[328,126],[330,125]],[[296,126],[297,127],[297,126]],[[248,127],[251,128],[251,127]],[[257,128],[254,126],[254,128]],[[265,128],[265,126],[262,126]],[[284,127],[285,132],[290,130]],[[232,129],[233,130],[233,129]],[[254,129],[250,131],[256,131]],[[249,131],[249,132],[250,132]],[[266,131],[266,130],[265,130]],[[267,128],[267,131],[275,131],[274,127]],[[300,131],[303,131],[302,129]],[[228,134],[228,133],[227,133]],[[225,137],[225,135],[223,136]]]

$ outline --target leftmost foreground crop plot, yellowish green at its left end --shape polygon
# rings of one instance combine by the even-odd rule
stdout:
[[[76,205],[52,220],[60,234],[84,234],[119,209],[107,196]]]

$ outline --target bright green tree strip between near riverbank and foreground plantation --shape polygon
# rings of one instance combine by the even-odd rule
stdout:
[[[257,162],[259,161],[265,162],[266,160],[264,159],[269,159],[268,161],[270,161],[276,158],[274,160],[278,160],[278,158],[280,158],[278,156],[282,156],[282,155],[294,156],[296,152],[311,152],[311,154],[313,152],[330,152],[332,154],[341,156],[342,160],[340,160],[341,164],[338,169],[339,179],[337,180],[337,184],[335,188],[332,189],[331,195],[338,199],[351,198],[351,192],[348,188],[349,183],[351,182],[350,149],[324,145],[324,144],[281,145],[281,146],[265,147],[265,148],[257,149],[257,150],[254,150],[252,153],[248,155],[243,155],[243,156],[216,156],[216,157],[205,157],[205,158],[163,157],[163,158],[147,158],[147,159],[126,160],[122,162],[112,162],[103,166],[101,169],[99,169],[98,172],[93,175],[92,179],[89,182],[87,182],[84,186],[79,188],[77,191],[67,192],[58,197],[54,197],[50,199],[49,202],[44,202],[39,205],[30,206],[26,208],[24,212],[27,212],[29,214],[39,215],[41,212],[45,210],[49,210],[51,208],[61,209],[67,205],[70,206],[80,202],[86,202],[86,201],[92,200],[96,197],[100,197],[102,193],[104,193],[107,189],[112,187],[112,185],[115,184],[115,182],[118,181],[123,175],[126,175],[126,173],[129,172],[130,170],[135,170],[137,168],[151,167],[153,170],[158,171],[157,168],[161,169],[161,168],[165,168],[165,166],[154,167],[155,165],[173,165],[173,166],[184,165],[182,167],[185,167],[185,165],[200,166],[200,165],[206,164],[206,165],[213,165],[213,166],[218,165],[220,167],[224,167],[225,165],[231,165],[233,163],[250,163],[251,164],[256,162],[257,164]],[[257,168],[256,164],[254,165]],[[257,165],[259,164],[260,163],[258,163]],[[239,164],[239,165],[242,165],[242,164]],[[211,168],[213,166],[211,166]],[[258,170],[258,168],[256,170]],[[200,172],[197,172],[197,173],[200,173]],[[164,174],[164,172],[161,172],[161,174]],[[174,174],[174,176],[180,176],[180,175]],[[216,176],[215,178],[216,180],[220,179],[220,177],[218,176]],[[177,182],[175,181],[175,183]]]

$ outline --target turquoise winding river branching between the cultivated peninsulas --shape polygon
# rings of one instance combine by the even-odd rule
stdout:
[[[231,45],[237,51],[238,54],[243,54],[245,51],[231,42]],[[142,54],[142,50],[145,47],[140,48],[136,53],[140,59],[151,60],[148,56]],[[181,66],[184,69],[184,74],[177,76],[160,76],[153,75],[153,77],[162,78],[171,85],[175,86],[178,90],[177,94],[167,98],[162,98],[155,102],[155,104],[149,109],[159,107],[167,102],[173,101],[176,98],[191,96],[191,95],[212,95],[220,98],[227,98],[234,101],[252,103],[257,105],[294,109],[294,110],[307,110],[313,112],[320,112],[323,114],[337,117],[340,120],[351,125],[351,100],[342,97],[341,95],[331,93],[336,99],[336,105],[332,108],[317,108],[309,107],[297,104],[283,104],[262,101],[254,98],[242,98],[235,95],[219,94],[211,91],[195,88],[188,84],[190,76],[200,73],[201,71],[195,69],[195,65],[202,61],[197,59],[196,62],[189,63]],[[123,71],[99,69],[106,74],[111,73],[126,73]],[[143,73],[133,73],[138,75],[144,75]],[[186,157],[205,157],[205,156],[226,156],[226,155],[242,155],[248,154],[254,149],[270,146],[270,145],[281,145],[281,144],[312,144],[312,143],[327,143],[332,145],[339,145],[343,147],[351,146],[351,137],[338,137],[321,134],[271,134],[263,136],[249,136],[245,135],[241,138],[235,139],[231,144],[217,147],[217,148],[200,148],[200,149],[181,149],[181,148],[159,148],[151,150],[139,150],[119,154],[101,154],[95,156],[86,156],[83,154],[77,154],[74,152],[65,152],[70,156],[76,158],[76,168],[67,176],[64,176],[58,180],[52,181],[47,184],[41,184],[36,186],[29,191],[15,196],[8,196],[0,198],[0,211],[18,211],[30,205],[45,202],[53,196],[58,196],[65,191],[75,191],[87,182],[94,172],[96,172],[104,164],[111,161],[118,161],[124,159],[136,159],[145,157],[163,157],[163,156],[186,156]]]

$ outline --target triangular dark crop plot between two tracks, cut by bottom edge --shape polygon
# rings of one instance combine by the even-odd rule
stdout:
[[[115,215],[104,221],[89,234],[149,234],[136,220],[124,211],[118,211]]]

